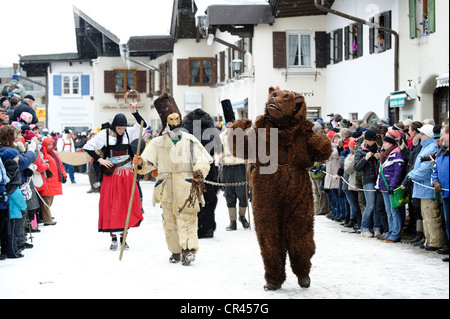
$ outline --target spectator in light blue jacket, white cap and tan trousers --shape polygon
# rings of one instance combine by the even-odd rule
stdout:
[[[430,161],[423,161],[422,158],[436,153],[438,147],[434,140],[433,125],[425,124],[419,131],[422,149],[417,155],[414,168],[408,173],[408,177],[415,183],[412,197],[420,199],[425,249],[435,251],[444,246],[444,234],[439,204],[435,199],[434,189],[431,186],[432,170]]]

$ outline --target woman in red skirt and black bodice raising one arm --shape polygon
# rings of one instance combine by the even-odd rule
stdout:
[[[131,159],[133,150],[131,142],[139,138],[142,116],[137,111],[137,103],[130,103],[130,111],[136,120],[132,127],[128,126],[124,114],[117,114],[112,123],[106,124],[94,138],[87,141],[83,149],[97,161],[103,170],[102,187],[100,189],[98,231],[111,235],[111,250],[117,250],[117,234],[123,239],[128,205],[133,187],[134,174]],[[144,127],[147,124],[144,121]],[[103,157],[96,153],[102,150]],[[139,227],[144,219],[141,210],[139,193],[135,192],[132,199],[129,227]],[[128,244],[125,245],[128,249]]]

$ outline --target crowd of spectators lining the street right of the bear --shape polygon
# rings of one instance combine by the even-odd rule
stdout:
[[[333,147],[310,171],[316,215],[364,238],[448,255],[448,119],[314,124]],[[397,188],[407,191],[406,205],[392,205]]]

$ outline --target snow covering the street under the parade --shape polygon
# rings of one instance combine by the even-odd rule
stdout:
[[[55,198],[56,226],[40,226],[33,249],[21,259],[0,261],[0,299],[403,299],[449,298],[449,264],[442,256],[407,244],[388,244],[342,232],[316,217],[316,254],[311,287],[302,289],[286,266],[282,289],[266,292],[255,231],[227,232],[223,193],[216,210],[217,230],[201,239],[189,267],[170,264],[162,211],[151,205],[154,183],[141,182],[144,221],[128,233],[129,250],[109,250],[108,234],[97,232],[99,194],[87,194],[86,174],[64,184]]]

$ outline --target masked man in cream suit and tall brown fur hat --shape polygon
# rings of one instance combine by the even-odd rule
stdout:
[[[173,97],[164,93],[154,105],[163,125],[161,134],[134,163],[142,175],[158,168],[153,205],[160,203],[163,210],[169,261],[189,265],[199,249],[197,213],[204,205],[203,182],[213,160],[193,135],[180,130],[181,113]]]

